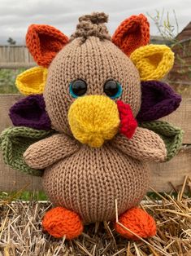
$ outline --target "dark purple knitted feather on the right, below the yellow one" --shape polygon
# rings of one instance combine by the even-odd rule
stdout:
[[[165,117],[180,106],[181,96],[164,82],[141,82],[141,109],[138,121],[153,121]]]

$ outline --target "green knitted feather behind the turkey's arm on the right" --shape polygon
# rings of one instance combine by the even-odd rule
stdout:
[[[153,130],[164,141],[167,148],[167,160],[175,157],[179,151],[184,131],[179,127],[171,126],[167,121],[143,121],[139,124],[143,128]]]

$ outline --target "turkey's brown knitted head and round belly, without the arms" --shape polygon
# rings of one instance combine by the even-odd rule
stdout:
[[[113,79],[123,86],[118,99],[130,104],[134,116],[140,109],[141,86],[137,68],[127,55],[106,39],[106,30],[102,29],[103,37],[92,36],[94,30],[91,30],[90,36],[85,38],[79,27],[72,41],[50,64],[44,92],[46,110],[54,129],[65,135],[72,135],[67,115],[75,99],[69,94],[69,86],[76,79],[87,83],[85,95],[105,95],[103,85]],[[114,219],[115,199],[119,214],[137,205],[148,183],[145,164],[124,155],[109,143],[102,148],[81,144],[71,157],[48,167],[43,176],[50,201],[80,214],[85,223]]]

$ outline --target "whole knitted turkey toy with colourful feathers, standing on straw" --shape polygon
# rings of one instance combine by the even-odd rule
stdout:
[[[11,107],[15,127],[1,135],[4,161],[42,176],[54,205],[42,226],[52,236],[70,240],[85,224],[115,223],[115,201],[127,227],[115,223],[116,232],[154,236],[154,219],[137,205],[149,186],[146,162],[170,160],[182,140],[179,128],[154,121],[180,104],[158,81],[173,53],[149,44],[142,14],[124,20],[112,38],[106,14],[79,21],[71,38],[49,25],[28,28],[28,50],[39,66],[16,79],[28,96]]]

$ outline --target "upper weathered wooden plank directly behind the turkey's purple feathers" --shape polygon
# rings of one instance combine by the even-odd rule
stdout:
[[[9,108],[21,97],[21,95],[0,95],[0,132],[11,126],[8,116]],[[183,143],[191,144],[191,99],[183,99],[180,108],[168,117],[164,117],[163,120],[174,126],[180,126],[184,130]]]

